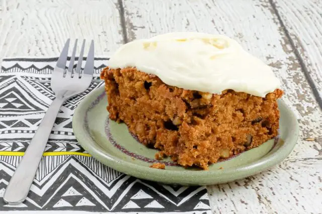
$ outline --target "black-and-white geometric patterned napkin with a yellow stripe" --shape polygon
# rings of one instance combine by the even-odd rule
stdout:
[[[99,74],[108,63],[107,58],[96,58],[89,89],[61,107],[27,200],[20,205],[6,204],[2,197],[7,184],[54,99],[50,77],[56,60],[3,60],[0,70],[0,212],[211,213],[204,186],[160,185],[125,175],[101,164],[77,143],[71,127],[73,112],[87,93],[103,84]]]

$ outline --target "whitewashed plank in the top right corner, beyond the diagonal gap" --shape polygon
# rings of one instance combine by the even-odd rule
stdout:
[[[322,1],[273,1],[289,37],[298,50],[298,58],[307,68],[322,106]]]

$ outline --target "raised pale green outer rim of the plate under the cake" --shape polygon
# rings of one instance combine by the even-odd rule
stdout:
[[[227,183],[241,178],[245,178],[254,174],[258,174],[265,171],[276,164],[282,162],[293,150],[299,136],[299,126],[293,111],[288,108],[286,103],[282,100],[278,100],[279,108],[284,108],[287,116],[289,117],[290,131],[287,134],[285,142],[281,147],[264,157],[237,167],[231,167],[227,169],[218,170],[200,170],[200,171],[175,171],[175,170],[160,170],[154,169],[143,165],[134,164],[125,160],[122,160],[110,153],[102,151],[102,148],[97,145],[95,140],[90,137],[91,134],[85,129],[85,116],[90,104],[104,91],[104,85],[94,89],[77,105],[72,117],[72,129],[74,136],[79,144],[96,160],[102,164],[111,167],[119,172],[141,178],[146,180],[152,180],[156,182],[183,184],[184,185],[211,185],[219,183]],[[105,95],[106,96],[106,95]],[[82,119],[83,118],[83,119]],[[77,121],[77,123],[76,123]],[[293,134],[290,134],[292,132]],[[82,136],[82,139],[79,138]],[[84,137],[86,137],[84,139]],[[284,139],[283,139],[284,140]],[[87,143],[92,141],[91,144]],[[287,143],[286,143],[287,142]],[[101,148],[101,150],[99,150]],[[103,159],[104,161],[101,161]],[[189,173],[189,176],[187,176]],[[165,176],[166,175],[166,176]],[[172,178],[169,181],[169,176]],[[214,177],[215,176],[215,177]],[[197,181],[197,182],[196,182]]]

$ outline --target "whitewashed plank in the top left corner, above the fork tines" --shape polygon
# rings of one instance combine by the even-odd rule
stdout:
[[[57,56],[67,38],[94,39],[96,56],[123,44],[117,0],[0,0],[0,35],[0,59]]]

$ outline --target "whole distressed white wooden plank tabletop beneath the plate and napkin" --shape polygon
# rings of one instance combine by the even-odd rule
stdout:
[[[209,186],[213,212],[321,213],[321,14],[321,0],[0,0],[0,60],[57,56],[66,38],[94,39],[96,55],[107,56],[171,31],[232,37],[274,68],[300,137],[272,169]]]

